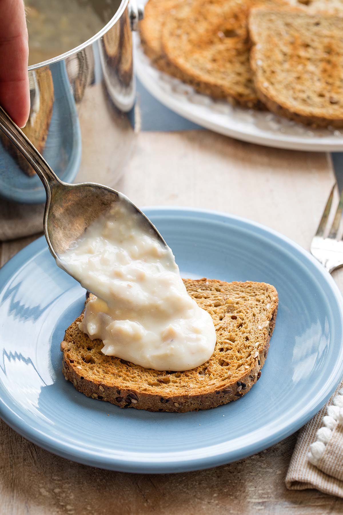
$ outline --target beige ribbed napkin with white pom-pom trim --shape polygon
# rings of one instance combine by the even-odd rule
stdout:
[[[301,429],[286,487],[316,488],[343,497],[343,381],[326,406]]]

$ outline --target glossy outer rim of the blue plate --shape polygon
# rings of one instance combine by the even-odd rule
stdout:
[[[213,219],[213,216],[219,216],[224,220],[229,220],[236,224],[239,222],[242,226],[248,226],[252,228],[259,229],[260,234],[264,235],[272,235],[272,240],[279,241],[280,243],[285,243],[291,248],[294,248],[298,253],[302,255],[302,257],[306,260],[310,260],[315,268],[320,272],[320,276],[322,280],[328,284],[334,297],[337,302],[337,307],[340,312],[340,335],[342,336],[342,328],[343,328],[343,296],[340,293],[340,290],[332,278],[331,274],[329,274],[322,265],[317,262],[313,256],[303,249],[300,245],[293,242],[292,239],[287,236],[282,235],[278,231],[274,229],[270,229],[259,222],[249,220],[247,218],[231,215],[227,213],[223,213],[215,210],[207,210],[207,209],[197,209],[197,208],[185,208],[185,207],[163,207],[163,206],[154,206],[154,207],[146,207],[142,208],[147,212],[148,216],[151,216],[151,213],[158,214],[160,216],[168,216],[173,215],[174,213],[179,213],[180,215],[187,213],[195,214],[197,217],[198,214],[202,215],[202,219]],[[210,215],[208,217],[208,215]],[[1,269],[0,269],[0,290],[7,283],[8,278],[16,273],[26,262],[30,259],[34,259],[38,253],[44,252],[47,250],[47,246],[42,248],[42,244],[44,245],[44,236],[36,239],[34,242],[30,243],[28,246],[24,247],[17,254],[13,256]],[[27,253],[29,252],[29,255]],[[340,347],[340,357],[343,357],[343,343],[341,341]],[[13,409],[8,406],[3,398],[0,398],[0,416],[1,418],[15,430],[17,433],[21,434],[28,440],[33,443],[39,445],[40,447],[50,451],[59,456],[65,457],[67,459],[71,459],[77,461],[84,465],[90,465],[95,467],[100,467],[103,469],[110,469],[122,472],[135,472],[135,473],[172,473],[172,472],[180,472],[180,471],[192,471],[192,470],[201,470],[210,467],[216,467],[223,464],[227,464],[232,461],[237,461],[238,459],[243,459],[247,456],[260,452],[264,449],[267,449],[271,445],[281,441],[282,439],[290,436],[295,431],[297,431],[300,427],[302,427],[308,420],[310,420],[320,409],[326,404],[327,400],[331,397],[332,393],[336,389],[339,384],[341,377],[343,375],[343,359],[338,360],[336,371],[333,375],[329,377],[327,382],[324,384],[326,390],[322,387],[320,390],[320,395],[317,395],[318,400],[313,403],[311,409],[307,408],[306,413],[302,414],[301,417],[298,417],[296,420],[292,420],[291,422],[284,423],[277,430],[272,432],[272,434],[267,434],[266,436],[260,437],[256,441],[250,443],[249,445],[245,445],[245,447],[240,448],[238,451],[228,451],[228,452],[220,452],[216,453],[215,448],[224,447],[225,442],[216,445],[206,445],[202,448],[197,448],[193,451],[178,451],[178,452],[165,452],[165,453],[137,453],[137,452],[127,452],[127,451],[117,451],[112,455],[108,453],[107,455],[101,454],[98,451],[91,451],[87,449],[83,449],[81,446],[77,447],[73,443],[65,444],[63,438],[60,439],[51,437],[48,435],[41,435],[38,428],[28,425],[25,420],[22,420],[20,416],[13,411]],[[327,386],[326,386],[327,385]],[[3,390],[3,384],[0,383],[0,392]],[[207,455],[202,455],[199,457],[199,451],[211,451],[208,452]],[[188,457],[187,457],[188,455]],[[194,456],[191,456],[194,455]]]

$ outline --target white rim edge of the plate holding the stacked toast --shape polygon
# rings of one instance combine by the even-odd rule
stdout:
[[[218,132],[219,134],[230,136],[231,138],[234,138],[236,140],[245,141],[247,143],[254,143],[256,145],[262,145],[266,147],[282,148],[286,150],[303,150],[307,152],[343,151],[343,136],[341,138],[337,138],[337,143],[325,143],[321,140],[321,138],[318,137],[313,138],[312,141],[297,141],[296,136],[291,136],[290,138],[285,139],[282,136],[277,137],[276,134],[270,135],[268,137],[266,135],[252,134],[233,127],[229,128],[218,123],[212,122],[210,119],[202,116],[201,114],[197,115],[193,112],[190,112],[187,108],[183,106],[182,102],[178,101],[173,96],[165,93],[163,89],[159,87],[159,83],[154,81],[149,76],[149,73],[146,73],[146,64],[138,59],[138,48],[139,38],[137,36],[135,38],[134,45],[135,73],[140,82],[152,96],[154,96],[159,102],[161,102],[161,104],[166,106],[168,109],[171,109],[175,113],[179,114],[180,116],[189,119],[191,122],[201,125],[202,127],[210,129],[214,132]],[[309,127],[309,130],[311,130],[311,127]]]

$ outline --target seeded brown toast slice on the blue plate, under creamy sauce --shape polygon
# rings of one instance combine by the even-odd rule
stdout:
[[[65,378],[87,397],[149,411],[208,409],[245,395],[259,380],[267,357],[278,308],[276,289],[255,282],[184,283],[214,322],[217,339],[209,361],[185,372],[163,372],[105,356],[102,341],[92,341],[79,329],[82,313],[61,343]]]

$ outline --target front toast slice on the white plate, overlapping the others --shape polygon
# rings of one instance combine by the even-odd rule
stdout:
[[[250,63],[270,111],[312,127],[343,127],[343,18],[252,9]]]

